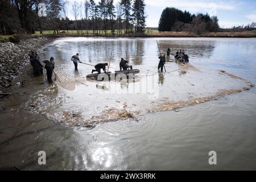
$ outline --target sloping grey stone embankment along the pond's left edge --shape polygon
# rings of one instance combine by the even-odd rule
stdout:
[[[18,44],[11,42],[0,43],[0,93],[11,86],[13,79],[19,75],[19,69],[29,62],[28,53],[38,51],[48,38],[31,38]]]

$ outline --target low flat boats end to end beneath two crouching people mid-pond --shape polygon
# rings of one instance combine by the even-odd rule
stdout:
[[[108,77],[122,77],[123,75],[125,76],[129,76],[129,74],[137,74],[139,73],[139,69],[127,69],[127,70],[122,70],[122,71],[115,71],[114,73],[112,72],[108,72],[108,73],[95,73],[95,74],[89,74],[89,75],[86,75],[86,78],[95,78],[97,80],[97,78],[104,78],[106,76]]]

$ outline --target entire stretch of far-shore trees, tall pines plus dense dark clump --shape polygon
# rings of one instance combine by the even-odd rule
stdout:
[[[45,9],[44,6],[45,5]],[[68,7],[74,20],[68,18]],[[76,30],[83,35],[121,35],[123,32],[144,32],[146,28],[146,4],[144,0],[84,0],[80,3],[68,0],[0,0],[0,34],[13,35],[26,32],[34,34],[43,30]],[[45,12],[43,12],[45,10]],[[220,28],[217,16],[191,14],[174,7],[167,7],[160,16],[158,30],[195,32],[251,31],[256,23],[229,29]],[[154,27],[147,28],[155,30]],[[157,29],[157,28],[156,28]],[[74,31],[72,31],[74,32]]]

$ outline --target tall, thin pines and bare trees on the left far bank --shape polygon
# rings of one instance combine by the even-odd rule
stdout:
[[[53,30],[53,34],[59,34],[59,30],[88,34],[92,30],[94,35],[143,32],[145,6],[144,0],[120,0],[116,5],[113,0],[1,0],[0,34],[43,30]],[[68,18],[68,7],[75,20]]]

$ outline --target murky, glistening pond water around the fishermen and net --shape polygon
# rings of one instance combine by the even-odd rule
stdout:
[[[67,90],[32,77],[30,65],[23,69],[15,81],[24,86],[7,90],[23,96],[1,99],[0,168],[256,169],[256,92],[246,83],[256,82],[256,39],[157,40],[161,52],[171,48],[166,73],[156,68],[155,38],[61,38],[44,48],[40,60],[55,57],[65,84],[65,78],[79,82]],[[189,55],[188,68],[173,63],[180,48]],[[126,51],[141,70],[130,82],[87,80],[92,67],[79,64],[75,72],[70,61],[76,52],[89,64],[111,58],[113,72]],[[237,89],[242,92],[225,96]],[[210,99],[202,104],[202,98]],[[46,165],[38,164],[38,151],[46,151]],[[217,152],[215,166],[209,151]]]

